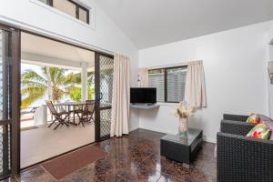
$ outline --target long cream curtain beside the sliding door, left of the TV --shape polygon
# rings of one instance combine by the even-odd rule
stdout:
[[[130,60],[115,55],[112,96],[111,136],[128,134],[130,106]]]

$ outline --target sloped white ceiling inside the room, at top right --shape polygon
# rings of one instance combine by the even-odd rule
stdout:
[[[100,0],[137,48],[273,19],[273,0]]]

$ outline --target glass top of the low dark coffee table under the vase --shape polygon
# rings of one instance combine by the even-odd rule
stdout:
[[[197,136],[200,135],[200,133],[202,133],[202,130],[188,128],[187,138],[180,138],[178,135],[167,134],[166,136],[161,137],[161,139],[175,142],[184,146],[190,146],[195,141]]]

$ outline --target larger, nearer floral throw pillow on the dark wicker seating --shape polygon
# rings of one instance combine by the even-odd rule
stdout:
[[[270,130],[268,129],[268,126],[264,123],[258,124],[257,126],[254,126],[249,132],[249,137],[259,138],[259,139],[268,139],[270,136]]]

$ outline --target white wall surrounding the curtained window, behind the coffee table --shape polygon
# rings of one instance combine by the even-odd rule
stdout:
[[[139,51],[139,66],[204,61],[207,108],[190,118],[189,126],[203,129],[207,141],[216,141],[224,113],[268,115],[268,23],[250,25]],[[174,104],[158,110],[142,110],[139,126],[177,133]]]

